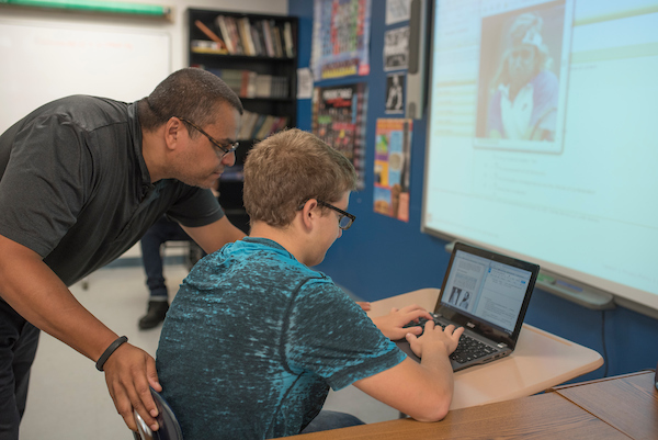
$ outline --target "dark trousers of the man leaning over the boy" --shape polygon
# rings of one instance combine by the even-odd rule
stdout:
[[[18,440],[39,329],[0,298],[0,440]]]

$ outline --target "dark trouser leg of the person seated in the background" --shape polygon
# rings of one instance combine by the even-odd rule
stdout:
[[[141,237],[141,261],[146,272],[146,285],[152,298],[167,298],[167,285],[162,270],[160,246],[166,241],[192,240],[175,222],[162,216]]]

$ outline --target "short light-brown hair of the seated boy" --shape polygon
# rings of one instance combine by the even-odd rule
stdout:
[[[307,200],[337,202],[355,188],[350,160],[298,128],[260,142],[245,161],[243,201],[251,222],[287,226]]]

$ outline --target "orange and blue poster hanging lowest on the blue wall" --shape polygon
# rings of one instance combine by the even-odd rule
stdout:
[[[409,222],[412,132],[413,120],[377,120],[374,211],[402,222]]]

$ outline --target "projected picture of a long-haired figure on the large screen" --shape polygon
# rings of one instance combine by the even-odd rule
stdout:
[[[484,16],[477,147],[559,153],[565,99],[560,82],[565,2]]]

